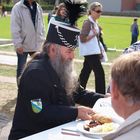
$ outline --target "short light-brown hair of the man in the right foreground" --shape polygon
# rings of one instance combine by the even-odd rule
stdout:
[[[123,54],[112,65],[111,78],[123,96],[140,102],[140,52]]]

